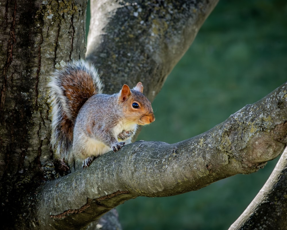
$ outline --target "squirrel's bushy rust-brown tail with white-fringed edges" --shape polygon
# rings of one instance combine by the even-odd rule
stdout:
[[[70,162],[73,129],[77,114],[92,95],[102,93],[102,83],[96,68],[84,60],[69,62],[56,70],[49,82],[54,154]]]

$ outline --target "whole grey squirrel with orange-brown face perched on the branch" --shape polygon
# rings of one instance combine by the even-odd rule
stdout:
[[[119,93],[103,94],[96,68],[84,60],[56,70],[49,88],[54,154],[67,162],[83,161],[83,167],[131,143],[137,125],[155,120],[140,82],[133,89],[123,85]]]

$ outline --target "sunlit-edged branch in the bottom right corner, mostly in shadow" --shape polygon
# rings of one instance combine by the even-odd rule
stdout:
[[[262,189],[228,230],[286,229],[286,191],[287,148]]]

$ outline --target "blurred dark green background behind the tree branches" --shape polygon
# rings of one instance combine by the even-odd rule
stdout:
[[[138,139],[175,143],[223,122],[287,81],[287,3],[221,0],[152,106],[156,121]],[[223,230],[263,186],[278,159],[166,198],[139,197],[118,206],[124,230]]]

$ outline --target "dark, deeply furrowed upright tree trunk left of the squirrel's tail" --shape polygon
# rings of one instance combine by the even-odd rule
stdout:
[[[30,229],[29,194],[55,176],[49,167],[47,77],[55,65],[84,57],[85,13],[86,1],[0,1],[3,229]]]

